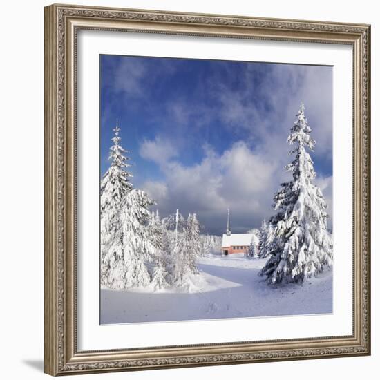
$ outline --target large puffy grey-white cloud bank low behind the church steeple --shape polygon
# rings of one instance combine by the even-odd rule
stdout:
[[[216,233],[225,227],[227,207],[234,231],[260,225],[271,212],[272,196],[285,173],[277,162],[254,153],[241,141],[222,155],[207,147],[202,162],[191,167],[173,160],[161,164],[165,181],[147,181],[142,188],[156,200],[162,215],[181,205],[182,213],[196,212]]]

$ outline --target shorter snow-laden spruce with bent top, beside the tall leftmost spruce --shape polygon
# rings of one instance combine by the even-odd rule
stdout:
[[[144,191],[133,189],[122,199],[120,204],[120,226],[115,239],[108,249],[108,256],[115,257],[117,271],[111,266],[111,280],[108,287],[127,289],[129,287],[144,287],[151,282],[146,263],[155,255],[152,243],[148,209],[153,205]],[[117,274],[120,278],[117,278]],[[112,286],[113,284],[113,286]],[[117,285],[117,286],[116,286]]]

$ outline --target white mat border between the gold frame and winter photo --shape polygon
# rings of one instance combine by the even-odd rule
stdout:
[[[79,30],[77,34],[77,343],[111,350],[352,334],[352,46]],[[334,66],[334,312],[99,325],[99,55],[230,59]],[[339,136],[339,139],[336,138]]]

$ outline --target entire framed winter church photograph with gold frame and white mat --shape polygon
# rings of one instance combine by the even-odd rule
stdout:
[[[370,354],[370,26],[45,8],[45,372]]]

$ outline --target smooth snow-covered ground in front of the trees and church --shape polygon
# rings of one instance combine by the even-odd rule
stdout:
[[[266,259],[209,254],[188,289],[101,289],[101,323],[185,321],[332,312],[332,271],[268,286],[258,276]]]

